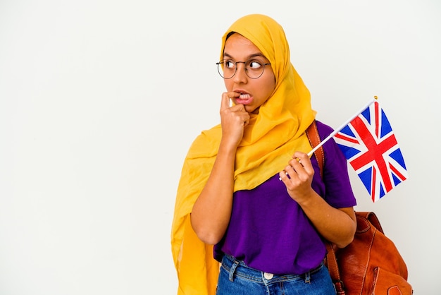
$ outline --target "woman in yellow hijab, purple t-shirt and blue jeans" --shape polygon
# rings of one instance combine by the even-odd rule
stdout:
[[[316,112],[284,30],[268,16],[240,18],[223,36],[218,70],[221,124],[194,140],[178,186],[178,294],[335,294],[324,240],[352,241],[356,201],[333,140],[323,178],[306,154]],[[322,139],[332,132],[317,125]]]

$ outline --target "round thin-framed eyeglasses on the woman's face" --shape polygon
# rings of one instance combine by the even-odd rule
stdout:
[[[216,63],[218,65],[218,72],[224,79],[231,79],[235,76],[237,71],[237,64],[245,65],[245,73],[251,79],[260,78],[265,71],[265,66],[269,66],[270,63],[262,64],[261,61],[256,59],[249,59],[248,61],[232,61],[231,59],[224,59]]]

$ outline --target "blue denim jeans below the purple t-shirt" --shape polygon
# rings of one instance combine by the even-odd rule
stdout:
[[[273,275],[224,255],[216,295],[335,295],[328,269],[321,263],[303,275]]]

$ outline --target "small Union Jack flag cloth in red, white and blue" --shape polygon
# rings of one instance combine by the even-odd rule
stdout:
[[[408,178],[389,120],[377,101],[334,136],[375,202]]]

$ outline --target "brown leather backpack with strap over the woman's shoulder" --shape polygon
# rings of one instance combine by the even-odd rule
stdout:
[[[320,143],[316,122],[306,135],[312,147]],[[323,171],[323,148],[314,152]],[[323,176],[323,173],[321,173]],[[338,295],[404,295],[413,294],[407,282],[407,267],[395,244],[385,236],[374,212],[355,212],[354,241],[344,248],[328,243],[325,258]]]

